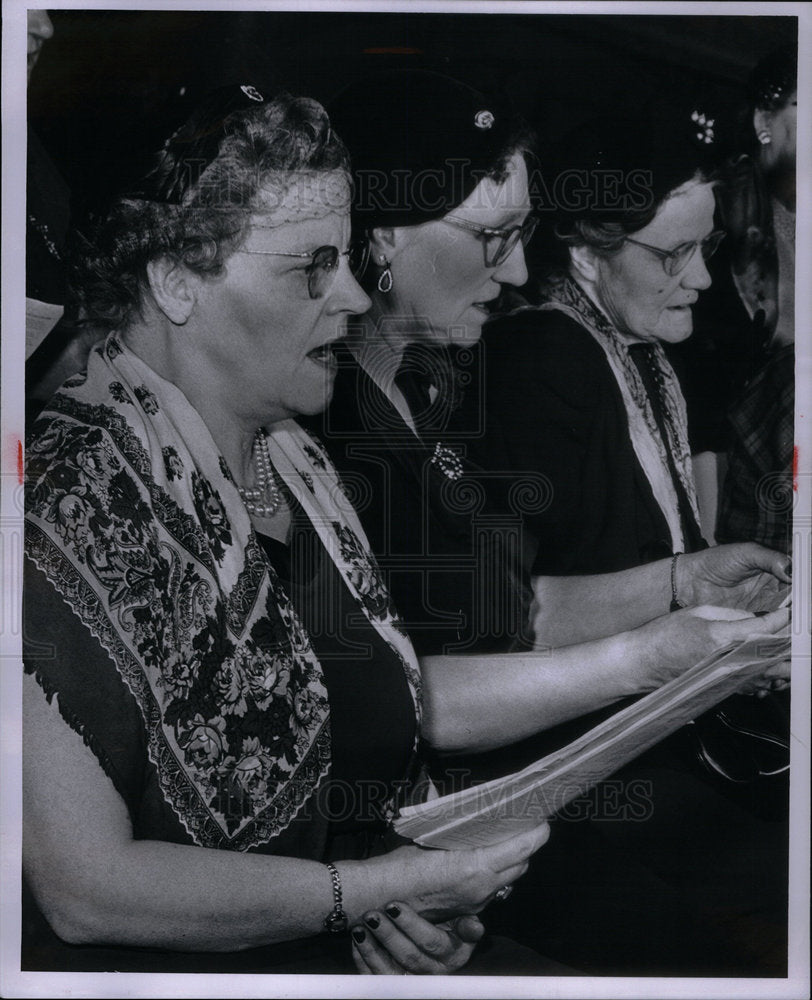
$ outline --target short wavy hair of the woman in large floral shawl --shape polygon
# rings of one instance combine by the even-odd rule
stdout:
[[[303,173],[349,178],[347,150],[318,102],[288,94],[264,101],[247,89],[257,96],[236,108],[216,92],[167,140],[138,192],[77,238],[70,285],[87,323],[126,327],[141,313],[147,265],[159,257],[220,274],[260,191],[281,198]]]

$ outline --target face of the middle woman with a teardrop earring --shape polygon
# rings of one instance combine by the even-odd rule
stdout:
[[[516,153],[504,182],[485,178],[450,214],[490,229],[510,229],[529,212],[527,167]],[[387,315],[405,319],[416,339],[474,343],[488,319],[487,304],[499,295],[501,285],[527,281],[521,243],[500,265],[489,268],[480,237],[442,220],[395,232],[393,287],[379,304]]]

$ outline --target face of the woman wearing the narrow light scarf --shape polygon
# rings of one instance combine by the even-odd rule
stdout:
[[[714,206],[710,184],[684,185],[631,238],[661,250],[703,240],[713,231]],[[684,270],[673,277],[666,274],[660,257],[633,243],[625,243],[614,256],[595,255],[594,259],[595,297],[621,333],[636,340],[670,344],[690,337],[691,306],[711,283],[699,247]]]

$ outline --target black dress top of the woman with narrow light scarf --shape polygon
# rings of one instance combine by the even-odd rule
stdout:
[[[670,556],[623,398],[587,330],[559,311],[523,310],[488,324],[483,346],[472,380],[478,391],[466,394],[456,422],[483,427],[471,457],[500,473],[489,480],[497,489],[509,487],[511,475],[547,479],[547,505],[526,516],[538,544],[533,572],[610,573]],[[639,367],[646,384],[642,358]],[[703,548],[684,498],[680,510],[687,551]]]

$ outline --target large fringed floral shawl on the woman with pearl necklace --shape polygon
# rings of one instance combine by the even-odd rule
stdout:
[[[402,663],[419,723],[417,661],[335,470],[293,421],[269,446]],[[35,423],[26,507],[26,552],[135,698],[194,843],[246,850],[281,833],[330,767],[321,667],[207,427],[115,333]]]

